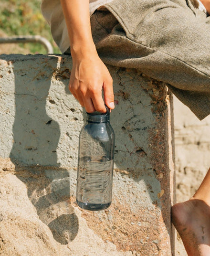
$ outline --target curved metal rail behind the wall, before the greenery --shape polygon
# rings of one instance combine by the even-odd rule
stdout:
[[[0,37],[0,43],[42,43],[47,53],[53,53],[52,44],[44,37],[40,35],[19,35],[19,36],[8,36]]]

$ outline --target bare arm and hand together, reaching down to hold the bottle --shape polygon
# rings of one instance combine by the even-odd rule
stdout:
[[[89,0],[61,0],[67,25],[73,66],[69,89],[88,113],[114,109],[112,77],[93,42]],[[102,97],[104,91],[104,99]]]

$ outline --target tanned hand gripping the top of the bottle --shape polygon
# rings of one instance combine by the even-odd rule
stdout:
[[[105,113],[105,104],[110,109],[115,107],[112,77],[96,51],[82,56],[73,55],[69,90],[88,113]]]

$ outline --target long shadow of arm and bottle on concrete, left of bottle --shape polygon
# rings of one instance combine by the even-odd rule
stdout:
[[[1,55],[1,59],[10,61],[11,55],[10,59]],[[50,64],[56,68],[57,58],[52,58]],[[43,71],[47,61],[33,66],[28,61],[21,61],[21,55],[14,55],[12,65],[15,120],[10,158],[15,164],[17,177],[27,187],[28,197],[40,220],[48,225],[54,239],[65,245],[78,233],[78,218],[69,202],[69,171],[60,168],[57,162],[59,124],[46,113],[52,77],[47,77]]]

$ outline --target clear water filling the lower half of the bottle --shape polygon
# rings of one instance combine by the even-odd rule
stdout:
[[[81,208],[97,211],[111,204],[113,163],[105,156],[79,160],[77,203]]]

